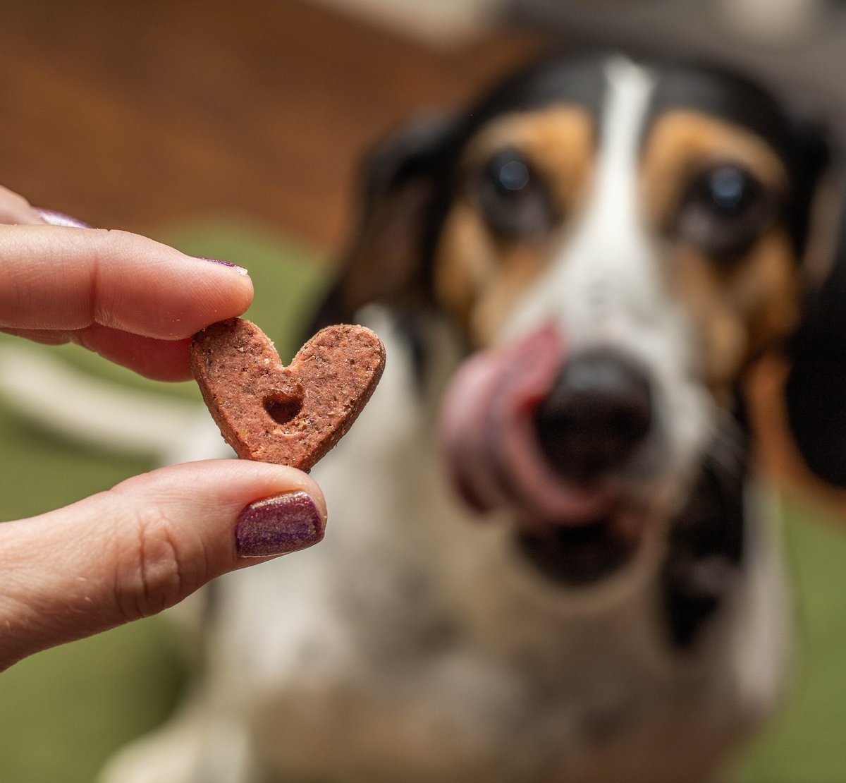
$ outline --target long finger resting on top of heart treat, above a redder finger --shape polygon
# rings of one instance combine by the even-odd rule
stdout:
[[[178,340],[243,313],[246,270],[124,231],[0,225],[0,328],[71,331],[95,324]]]

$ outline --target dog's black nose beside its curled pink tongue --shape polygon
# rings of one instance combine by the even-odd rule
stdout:
[[[537,438],[549,464],[579,482],[622,465],[651,423],[645,372],[609,350],[566,361],[535,411]]]

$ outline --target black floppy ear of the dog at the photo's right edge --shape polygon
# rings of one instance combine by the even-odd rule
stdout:
[[[810,240],[827,255],[826,273],[810,283],[789,350],[788,423],[799,453],[817,477],[846,487],[846,201],[838,177],[830,240]],[[823,223],[825,221],[822,221]],[[816,262],[818,259],[810,259]],[[810,270],[809,270],[810,271]]]

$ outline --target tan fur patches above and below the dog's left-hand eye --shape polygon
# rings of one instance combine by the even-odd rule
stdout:
[[[550,190],[564,218],[584,205],[593,168],[591,118],[583,109],[556,107],[513,114],[494,122],[471,142],[465,176],[478,175],[497,152],[525,155]],[[505,315],[546,267],[547,240],[509,243],[486,228],[472,197],[458,197],[447,217],[435,259],[438,299],[464,325],[476,345],[489,345]]]

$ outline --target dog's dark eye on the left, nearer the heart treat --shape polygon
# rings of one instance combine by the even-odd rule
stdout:
[[[516,150],[492,157],[475,190],[486,223],[508,239],[543,234],[555,218],[546,186]]]

